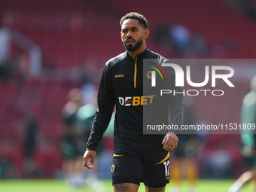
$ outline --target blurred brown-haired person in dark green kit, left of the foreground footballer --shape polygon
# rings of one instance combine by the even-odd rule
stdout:
[[[81,90],[69,91],[69,102],[62,109],[62,170],[69,186],[77,188],[84,184],[81,153],[78,147],[78,109],[82,106]]]

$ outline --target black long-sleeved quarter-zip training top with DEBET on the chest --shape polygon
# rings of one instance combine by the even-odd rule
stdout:
[[[181,126],[183,94],[181,87],[175,87],[174,70],[171,67],[163,68],[166,72],[164,78],[160,73],[155,73],[157,86],[151,87],[151,71],[157,65],[152,62],[143,69],[143,59],[157,60],[159,66],[161,62],[168,61],[146,49],[136,58],[125,52],[106,63],[99,85],[98,109],[87,150],[96,150],[108,127],[114,105],[114,150],[165,151],[161,144],[163,134],[143,134],[143,127],[146,129],[148,126],[147,120],[151,125],[156,122],[168,124],[170,114],[171,123]],[[161,89],[172,90],[172,93],[160,96]],[[178,93],[175,96],[174,91]],[[172,132],[179,133],[179,130]]]

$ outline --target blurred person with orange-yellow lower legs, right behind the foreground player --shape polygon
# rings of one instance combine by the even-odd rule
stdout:
[[[194,100],[190,96],[184,97],[184,125],[196,125],[197,114],[194,108]],[[196,134],[182,134],[178,139],[178,146],[174,151],[174,159],[171,166],[170,176],[172,178],[172,190],[170,192],[181,191],[182,178],[187,178],[187,192],[195,192],[197,184],[197,165],[194,158],[197,155],[198,136]]]

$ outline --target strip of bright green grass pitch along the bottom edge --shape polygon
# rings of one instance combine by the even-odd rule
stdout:
[[[197,183],[197,192],[227,192],[227,188],[233,184],[233,180],[200,180]],[[103,192],[111,192],[112,186],[110,180],[102,180],[105,189]],[[172,187],[172,184],[167,184],[166,192]],[[183,181],[182,192],[186,191],[187,183]],[[63,180],[0,180],[0,191],[2,192],[72,192],[85,191],[94,192],[91,187],[85,185],[80,189],[72,189]],[[141,184],[139,192],[145,191],[144,185]],[[241,192],[250,192],[252,188],[250,185],[245,186]]]

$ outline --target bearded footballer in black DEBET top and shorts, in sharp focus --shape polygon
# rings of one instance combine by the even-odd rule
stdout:
[[[169,151],[176,148],[179,132],[171,130],[165,134],[143,134],[143,108],[151,109],[146,114],[156,120],[169,122],[170,115],[171,123],[180,127],[183,95],[144,95],[143,77],[147,74],[143,72],[143,59],[167,59],[146,47],[150,32],[148,21],[141,14],[126,14],[121,18],[120,26],[126,52],[108,60],[103,70],[98,110],[84,153],[84,166],[93,169],[96,147],[115,105],[114,157],[111,167],[114,192],[136,192],[141,182],[145,184],[146,192],[165,191],[169,183]],[[160,66],[161,62],[157,65]],[[166,70],[166,78],[159,82],[160,87],[182,93],[181,87],[175,87],[173,69]],[[152,110],[156,101],[161,108]],[[161,111],[168,112],[163,114]]]

